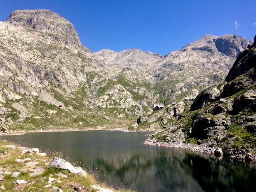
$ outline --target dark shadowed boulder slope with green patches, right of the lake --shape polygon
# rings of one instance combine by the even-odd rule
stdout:
[[[221,147],[224,155],[255,161],[255,66],[256,43],[253,43],[239,54],[225,82],[202,91],[191,109],[185,110],[175,125],[154,135],[153,142],[208,143],[211,147]],[[222,150],[216,154],[222,154]]]

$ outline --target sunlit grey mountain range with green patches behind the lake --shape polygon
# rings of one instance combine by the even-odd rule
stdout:
[[[139,49],[91,53],[73,25],[48,10],[14,11],[0,22],[0,42],[2,122],[10,117],[27,128],[124,127],[139,116],[139,125],[160,128],[224,80],[250,43],[206,35],[165,57]],[[159,102],[166,107],[153,112]]]

